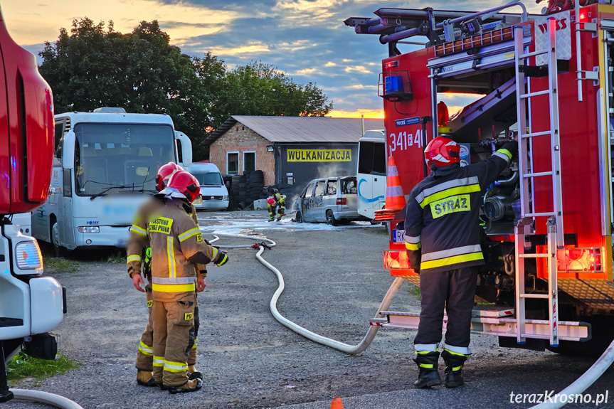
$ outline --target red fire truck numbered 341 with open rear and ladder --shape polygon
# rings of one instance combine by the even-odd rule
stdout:
[[[502,346],[600,354],[614,337],[614,6],[551,0],[538,16],[512,1],[477,13],[375,14],[345,23],[388,46],[379,95],[406,195],[425,177],[434,137],[458,142],[466,164],[519,141],[518,158],[482,192],[486,265],[472,331]],[[408,39],[418,36],[428,43],[416,50]],[[399,50],[408,45],[414,51]],[[441,102],[452,94],[475,102],[447,122]],[[404,216],[390,221],[384,265],[418,284]],[[373,323],[417,328],[418,317],[386,312]]]

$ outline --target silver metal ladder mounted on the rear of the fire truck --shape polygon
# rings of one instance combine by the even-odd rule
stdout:
[[[517,342],[524,344],[526,338],[549,339],[551,346],[559,345],[559,297],[556,283],[556,250],[563,247],[563,216],[561,197],[561,152],[559,142],[559,85],[556,63],[556,21],[549,19],[548,48],[543,51],[526,52],[523,44],[523,28],[515,28],[514,41],[516,43],[516,98],[518,109],[518,142],[519,142],[519,171],[520,171],[520,200],[521,221],[515,227],[516,240],[516,319]],[[547,90],[531,92],[531,70],[539,70],[529,65],[529,58],[536,55],[546,55],[548,60]],[[526,83],[526,91],[525,85]],[[549,96],[550,129],[533,132],[531,124],[531,100],[541,95]],[[551,141],[551,171],[534,171],[533,138],[549,136]],[[527,144],[528,142],[528,144]],[[528,147],[527,147],[528,145]],[[534,180],[539,177],[552,179],[553,211],[536,212],[534,201]],[[531,200],[533,199],[533,200]],[[537,218],[548,217],[546,222],[547,253],[525,253],[526,235],[535,232]],[[543,220],[543,219],[542,219]],[[527,258],[546,259],[548,265],[548,293],[527,293],[525,288],[525,260]],[[526,299],[546,299],[549,305],[549,334],[536,335],[526,332]]]

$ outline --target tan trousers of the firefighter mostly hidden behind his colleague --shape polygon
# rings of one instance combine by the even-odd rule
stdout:
[[[151,281],[151,280],[150,280]],[[141,341],[139,342],[139,350],[137,351],[137,363],[136,367],[139,371],[153,371],[154,370],[154,324],[152,323],[152,285],[145,286],[145,294],[147,295],[147,327],[141,335]],[[195,297],[196,298],[196,297]],[[194,326],[190,329],[190,339],[194,339],[194,345],[191,347],[188,354],[188,365],[196,364],[196,345],[198,344],[199,336],[199,302],[196,298],[196,305],[194,307]]]

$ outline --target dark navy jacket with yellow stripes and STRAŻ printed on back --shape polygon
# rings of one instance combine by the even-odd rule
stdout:
[[[405,244],[414,270],[443,272],[484,264],[481,192],[517,150],[517,142],[508,142],[477,164],[435,169],[413,188],[406,208]]]

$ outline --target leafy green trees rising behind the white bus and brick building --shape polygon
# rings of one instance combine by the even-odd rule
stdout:
[[[314,115],[332,102],[314,83],[295,83],[277,68],[253,61],[228,70],[211,53],[190,57],[170,45],[157,21],[132,33],[112,21],[73,20],[45,43],[40,72],[53,89],[55,112],[123,107],[127,112],[166,113],[192,140],[194,160],[205,159],[208,132],[231,115]]]

